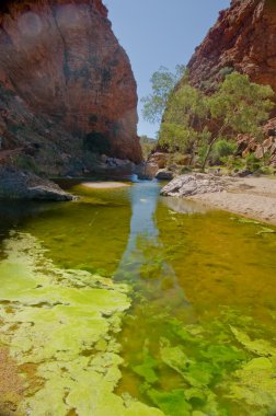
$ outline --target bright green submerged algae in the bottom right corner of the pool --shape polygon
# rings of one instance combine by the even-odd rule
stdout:
[[[229,316],[240,325],[246,322],[244,317],[234,317],[232,312]],[[137,367],[134,368],[146,380],[141,384],[141,391],[166,415],[193,415],[195,411],[206,415],[232,415],[235,414],[235,404],[239,405],[238,408],[242,408],[244,415],[267,415],[275,411],[275,348],[262,339],[252,342],[242,330],[227,323],[221,331],[221,322],[222,316],[218,322],[198,325],[198,331],[197,325],[186,325],[183,328],[185,334],[191,331],[202,336],[193,340],[185,337],[183,342],[177,335],[182,335],[180,331],[170,331],[175,326],[183,326],[183,323],[175,319],[171,322],[168,320],[168,334],[173,333],[174,336],[171,336],[172,340],[161,337],[160,349],[154,349],[150,359],[159,379],[147,379],[146,371],[137,372]],[[235,346],[235,339],[245,350]],[[177,344],[180,340],[182,343]],[[256,354],[262,358],[254,358]],[[160,390],[169,372],[158,361],[158,357],[163,365],[183,378],[183,382],[175,383],[179,389]],[[147,369],[147,362],[148,356],[139,369]],[[220,400],[221,393],[229,401],[226,407]],[[232,411],[229,409],[230,403]]]

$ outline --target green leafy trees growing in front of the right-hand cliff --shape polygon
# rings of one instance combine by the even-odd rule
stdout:
[[[255,137],[262,146],[263,126],[274,107],[271,86],[233,71],[207,95],[189,83],[187,72],[177,82],[179,68],[183,71],[177,67],[173,74],[163,68],[156,72],[152,94],[143,100],[147,120],[156,122],[163,114],[159,145],[171,152],[188,153],[191,166],[199,165],[203,171],[208,161],[229,163],[239,134]]]

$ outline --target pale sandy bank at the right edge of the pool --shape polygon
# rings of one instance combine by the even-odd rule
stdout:
[[[228,190],[196,195],[189,199],[276,224],[276,178],[233,178]]]

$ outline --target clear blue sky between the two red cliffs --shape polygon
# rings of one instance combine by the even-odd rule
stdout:
[[[127,51],[138,84],[139,135],[154,137],[158,125],[142,119],[140,99],[160,66],[187,63],[230,0],[104,0],[115,35]]]

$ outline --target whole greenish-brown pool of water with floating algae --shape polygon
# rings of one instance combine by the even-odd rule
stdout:
[[[0,207],[0,415],[276,415],[276,230],[71,190]]]

